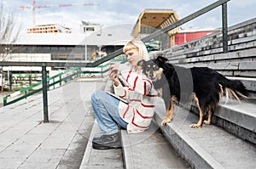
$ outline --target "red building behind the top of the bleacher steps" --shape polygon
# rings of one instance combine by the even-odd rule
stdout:
[[[205,37],[217,30],[188,30],[188,31],[179,31],[175,35],[175,45],[183,44],[184,42],[190,42],[200,37]]]

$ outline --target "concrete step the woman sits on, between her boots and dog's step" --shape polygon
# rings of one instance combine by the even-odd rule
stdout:
[[[138,168],[190,168],[153,122],[142,133],[121,131],[123,157],[126,169]]]

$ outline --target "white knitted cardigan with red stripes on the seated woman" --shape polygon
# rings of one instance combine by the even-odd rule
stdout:
[[[114,86],[114,92],[128,100],[129,104],[119,103],[119,115],[128,123],[127,132],[143,132],[152,121],[157,93],[152,82],[143,74],[124,70],[121,76],[126,85]]]

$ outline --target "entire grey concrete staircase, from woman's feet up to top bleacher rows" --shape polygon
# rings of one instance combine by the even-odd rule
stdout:
[[[165,52],[177,65],[209,66],[224,76],[240,79],[255,98],[255,23],[253,19],[230,27],[227,54],[222,53],[218,32]],[[105,89],[109,91],[109,87],[108,82]],[[194,105],[190,110],[176,107],[174,120],[165,127],[160,126],[166,112],[163,100],[159,98],[157,102],[154,121],[146,132],[121,131],[123,149],[92,149],[95,122],[80,168],[255,168],[255,101],[225,104],[221,100],[212,125],[203,125],[201,129],[189,127],[199,118]]]

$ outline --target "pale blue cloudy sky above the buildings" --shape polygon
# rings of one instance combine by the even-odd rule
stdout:
[[[20,10],[20,6],[32,6],[32,0],[3,1],[5,13],[14,14],[21,32],[32,27],[32,9]],[[139,15],[147,8],[173,9],[180,19],[207,7],[217,0],[36,0],[36,5],[73,4],[72,7],[36,8],[36,24],[61,24],[79,33],[81,20],[101,24],[104,27],[113,25],[135,25]],[[83,3],[93,3],[84,6]],[[228,26],[236,25],[256,17],[255,0],[230,0],[228,5]],[[201,15],[195,20],[182,25],[183,29],[216,29],[222,26],[221,6]]]

